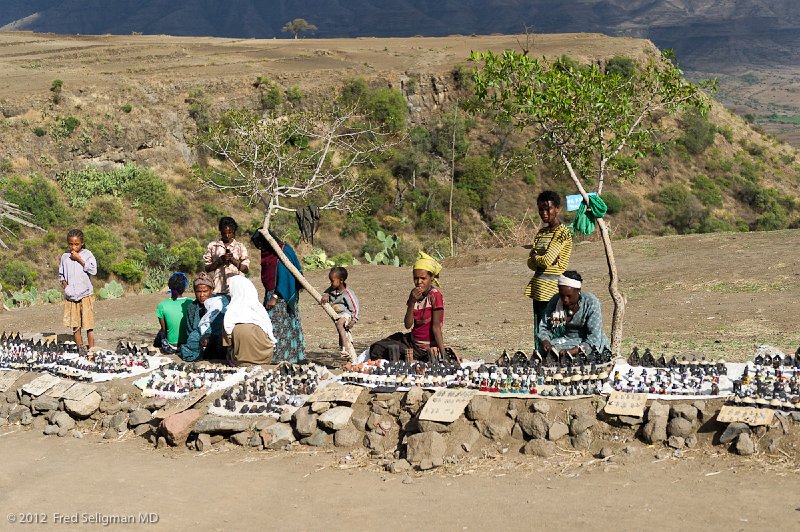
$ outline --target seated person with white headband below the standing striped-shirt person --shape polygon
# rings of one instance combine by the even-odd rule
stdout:
[[[558,294],[544,309],[539,322],[539,340],[545,352],[554,348],[559,354],[577,355],[592,348],[602,351],[608,347],[603,333],[600,300],[591,292],[581,292],[583,278],[567,270],[558,279]]]

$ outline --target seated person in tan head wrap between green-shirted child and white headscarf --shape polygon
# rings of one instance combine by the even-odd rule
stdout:
[[[225,359],[227,348],[222,345],[225,309],[230,299],[215,295],[214,280],[201,273],[193,283],[195,300],[186,310],[186,343],[180,357],[186,362],[204,359]]]

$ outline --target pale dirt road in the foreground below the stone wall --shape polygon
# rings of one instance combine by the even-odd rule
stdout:
[[[158,516],[110,530],[790,530],[800,516],[796,469],[724,451],[675,458],[639,445],[605,461],[488,456],[468,470],[392,475],[341,452],[153,451],[140,439],[33,432],[0,433],[0,445],[4,530],[46,529],[56,513]],[[48,525],[6,522],[26,513]]]

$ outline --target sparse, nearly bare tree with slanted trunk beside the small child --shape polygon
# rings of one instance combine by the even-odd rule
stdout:
[[[270,222],[276,212],[295,212],[304,202],[340,211],[363,203],[369,185],[357,169],[389,145],[383,134],[356,118],[352,109],[279,117],[230,111],[198,138],[198,145],[216,158],[200,176],[204,186],[264,207],[261,233],[318,303],[320,293],[283,253],[270,234]],[[327,303],[322,307],[331,319],[339,317]],[[345,349],[354,359],[352,344]]]

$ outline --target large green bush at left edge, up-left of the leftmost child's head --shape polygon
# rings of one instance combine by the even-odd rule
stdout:
[[[30,177],[9,177],[0,185],[6,201],[16,203],[33,215],[33,222],[44,229],[65,227],[74,220],[58,188],[48,179],[36,174]]]

